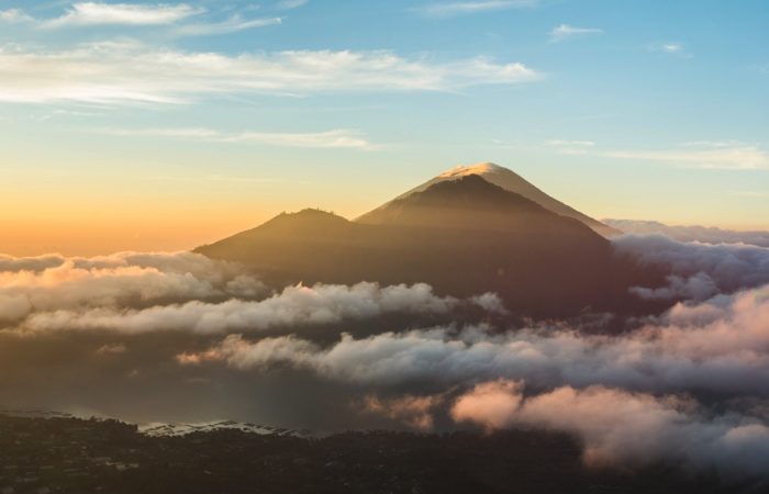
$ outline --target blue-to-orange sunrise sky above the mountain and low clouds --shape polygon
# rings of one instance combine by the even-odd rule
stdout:
[[[769,228],[767,25],[759,0],[0,0],[0,250],[189,248],[477,161],[597,217]]]

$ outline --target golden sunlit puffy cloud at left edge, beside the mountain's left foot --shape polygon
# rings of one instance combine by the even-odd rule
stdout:
[[[266,288],[243,271],[242,266],[191,252],[121,252],[94,258],[0,256],[0,319],[65,310],[263,295]]]

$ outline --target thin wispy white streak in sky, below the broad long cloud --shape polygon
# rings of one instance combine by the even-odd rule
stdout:
[[[98,133],[114,136],[170,137],[207,139],[218,143],[254,143],[281,147],[307,147],[325,149],[377,150],[382,146],[370,143],[366,134],[356,130],[336,128],[325,132],[276,133],[239,132],[224,133],[204,127],[180,128],[108,128]]]

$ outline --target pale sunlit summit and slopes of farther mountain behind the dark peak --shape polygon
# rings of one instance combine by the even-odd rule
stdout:
[[[358,217],[356,221],[359,223],[367,223],[367,224],[378,224],[381,222],[381,212],[382,209],[387,207],[388,205],[392,204],[393,202],[397,202],[399,200],[402,200],[404,198],[408,198],[411,194],[414,194],[416,192],[422,192],[426,189],[428,189],[432,186],[435,186],[437,183],[446,182],[446,181],[453,181],[458,178],[462,177],[469,177],[469,176],[479,176],[483,180],[493,183],[509,192],[514,192],[519,195],[522,195],[525,199],[528,199],[536,204],[543,206],[544,209],[551,211],[556,214],[559,214],[561,216],[568,216],[572,217],[587,226],[589,226],[591,229],[594,232],[603,235],[603,236],[612,236],[612,235],[618,235],[622,232],[620,232],[616,228],[613,228],[609,225],[604,225],[603,223],[593,220],[590,216],[587,216],[579,211],[575,210],[573,207],[570,207],[562,202],[547,195],[545,192],[542,190],[537,189],[534,187],[532,183],[527,182],[524,180],[521,176],[517,173],[513,172],[512,170],[509,170],[508,168],[500,167],[499,165],[494,165],[491,162],[483,162],[483,164],[478,164],[478,165],[472,165],[472,166],[459,166],[456,168],[453,168],[444,173],[441,173],[439,176],[435,177],[434,179],[405,192],[404,194],[399,195],[394,200],[388,202],[387,204],[364,214],[363,216]]]

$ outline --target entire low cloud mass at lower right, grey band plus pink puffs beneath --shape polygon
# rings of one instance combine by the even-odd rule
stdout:
[[[489,430],[567,431],[582,440],[589,465],[666,462],[734,479],[764,476],[769,465],[769,287],[681,303],[616,336],[567,325],[347,335],[330,346],[230,335],[177,360],[310,372],[374,391],[356,403],[359,413],[419,430],[445,411]]]

